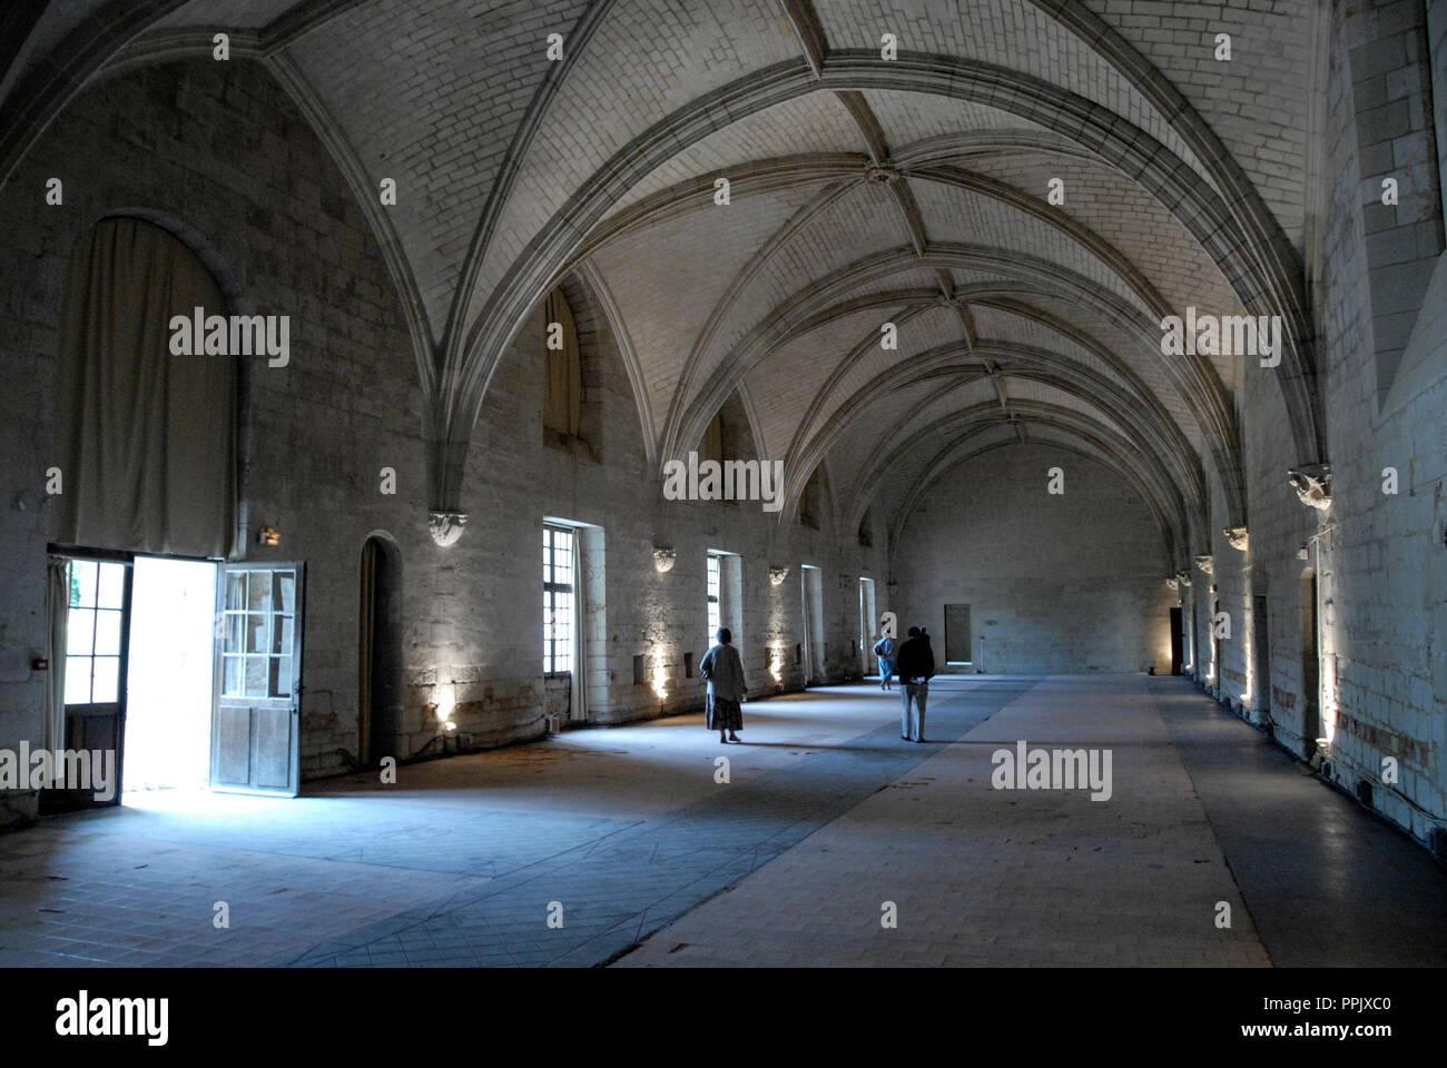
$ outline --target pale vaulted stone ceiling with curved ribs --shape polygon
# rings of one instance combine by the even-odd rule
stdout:
[[[794,499],[825,463],[839,521],[873,505],[888,527],[954,463],[1045,441],[1137,486],[1181,559],[1246,520],[1250,370],[1163,356],[1163,315],[1281,315],[1286,462],[1323,459],[1301,266],[1320,12],[1242,7],[52,3],[4,56],[0,177],[93,80],[226,30],[369,211],[431,398],[438,509],[460,508],[502,350],[577,272],[654,462],[737,391]]]

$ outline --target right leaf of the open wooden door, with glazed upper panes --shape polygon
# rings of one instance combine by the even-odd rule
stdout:
[[[301,786],[304,564],[224,563],[216,585],[211,789],[295,797]]]

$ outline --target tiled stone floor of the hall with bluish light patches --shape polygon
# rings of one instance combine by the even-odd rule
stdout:
[[[0,965],[1447,962],[1447,874],[1181,679],[942,679],[925,744],[877,686],[744,715],[43,821]],[[993,789],[1022,738],[1111,797]]]

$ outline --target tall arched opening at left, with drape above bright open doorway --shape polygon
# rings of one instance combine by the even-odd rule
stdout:
[[[175,320],[229,311],[211,268],[155,221],[101,219],[71,250],[42,741],[114,770],[93,800],[67,790],[46,808],[119,803],[120,780],[133,794],[207,784],[221,637],[214,561],[237,535],[239,370],[224,346],[178,346]]]

